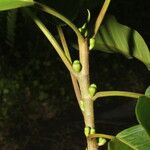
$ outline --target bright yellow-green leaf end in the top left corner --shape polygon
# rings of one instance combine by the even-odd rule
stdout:
[[[33,5],[33,0],[0,0],[0,11]]]

